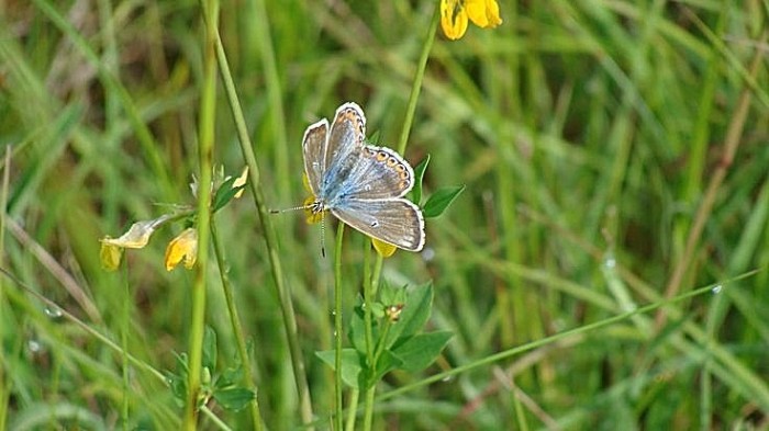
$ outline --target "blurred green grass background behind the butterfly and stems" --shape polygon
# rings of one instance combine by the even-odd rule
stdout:
[[[259,186],[268,207],[285,208],[307,194],[304,128],[341,103],[358,102],[367,133],[397,145],[437,0],[263,7],[223,1],[220,33]],[[382,277],[432,280],[428,328],[454,338],[425,372],[379,385],[375,429],[769,427],[768,10],[503,1],[498,29],[437,35],[404,156],[431,155],[426,193],[467,189],[427,220],[425,251],[399,251]],[[186,0],[0,2],[2,266],[116,343],[127,303],[127,351],[161,372],[188,350],[194,272],[163,264],[182,227],[130,251],[124,272],[101,269],[99,239],[194,203],[201,16]],[[221,84],[216,101],[213,161],[236,174],[245,162]],[[215,217],[259,410],[270,429],[301,427],[254,202]],[[333,348],[333,259],[302,214],[271,222],[315,426],[327,429],[333,374],[314,352]],[[361,295],[363,243],[347,230],[345,318]],[[221,366],[233,365],[219,272],[200,263],[205,322]],[[126,394],[129,428],[180,427],[161,379],[132,367],[124,390],[119,352],[10,279],[1,285],[5,427],[121,428]],[[649,304],[665,318],[628,314]],[[477,366],[425,381],[466,365]],[[231,429],[250,427],[248,410],[210,407]],[[200,429],[224,426],[205,416]]]

